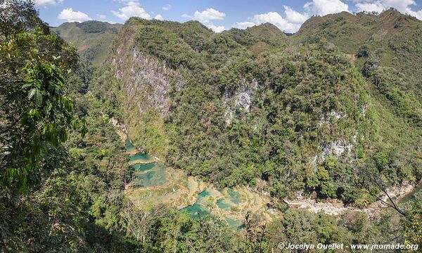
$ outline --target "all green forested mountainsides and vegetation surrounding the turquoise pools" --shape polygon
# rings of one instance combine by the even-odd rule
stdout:
[[[338,13],[287,36],[141,18],[50,29],[32,1],[0,14],[0,252],[422,242],[421,192],[390,198],[422,178],[421,21]],[[271,219],[245,212],[233,231],[144,201],[164,188],[134,201],[125,134],[173,174],[271,198]],[[303,199],[344,212],[286,205]]]

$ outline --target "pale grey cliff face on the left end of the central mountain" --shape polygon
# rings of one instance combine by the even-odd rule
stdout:
[[[120,87],[127,134],[141,150],[163,157],[169,141],[164,118],[174,94],[186,86],[184,70],[146,53],[136,31],[132,25],[122,28],[108,56],[108,75]]]

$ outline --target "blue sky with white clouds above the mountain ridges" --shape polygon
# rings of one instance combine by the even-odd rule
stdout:
[[[51,26],[101,20],[124,23],[132,16],[186,22],[198,20],[215,32],[245,29],[270,22],[283,32],[296,32],[312,15],[396,8],[422,20],[422,0],[34,0]]]

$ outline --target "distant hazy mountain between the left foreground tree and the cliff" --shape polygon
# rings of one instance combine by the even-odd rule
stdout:
[[[65,22],[51,30],[75,45],[87,63],[98,67],[106,59],[110,45],[121,28],[120,24],[86,21]]]

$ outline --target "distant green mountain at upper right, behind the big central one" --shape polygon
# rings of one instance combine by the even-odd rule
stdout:
[[[422,90],[422,22],[411,15],[390,9],[376,15],[342,12],[312,17],[293,35],[296,42],[325,39],[344,53],[364,56],[378,54],[379,65],[394,67]]]

